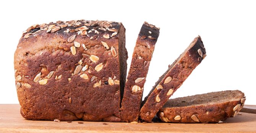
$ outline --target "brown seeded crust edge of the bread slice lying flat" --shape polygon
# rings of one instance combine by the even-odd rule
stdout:
[[[242,93],[242,92],[241,92]],[[204,94],[201,94],[204,95]],[[170,99],[172,100],[172,99]],[[233,101],[225,101],[222,103],[207,104],[207,105],[193,105],[182,107],[168,107],[160,109],[157,116],[163,122],[173,123],[216,123],[221,120],[225,120],[229,117],[234,117],[245,103],[244,95]],[[234,107],[241,105],[234,111]],[[191,116],[195,115],[198,118],[198,122],[191,119]],[[175,120],[175,117],[180,117]]]

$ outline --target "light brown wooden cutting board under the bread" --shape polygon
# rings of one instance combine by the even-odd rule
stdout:
[[[254,105],[254,108],[256,106]],[[123,133],[123,132],[256,132],[256,114],[241,112],[223,123],[111,123],[111,122],[53,122],[25,120],[19,113],[19,105],[0,105],[0,133]],[[83,122],[83,123],[78,123]]]

